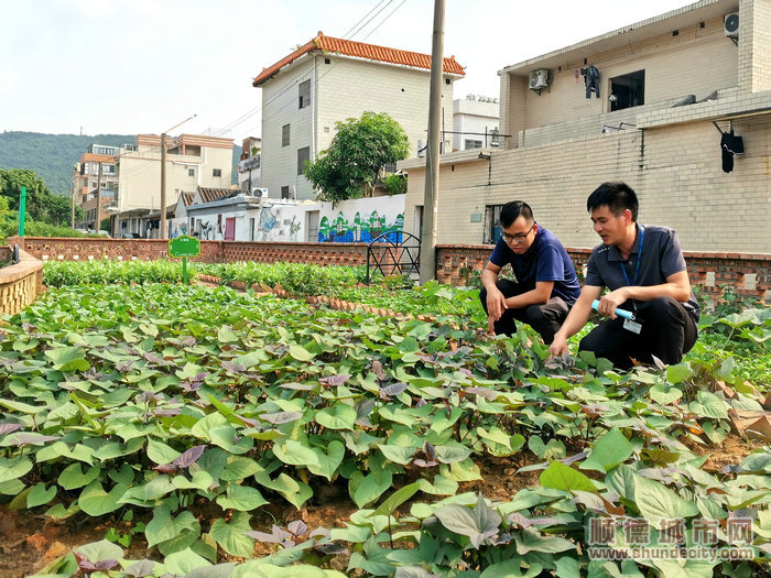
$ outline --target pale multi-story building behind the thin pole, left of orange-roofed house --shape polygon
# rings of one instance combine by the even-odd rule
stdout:
[[[182,193],[196,187],[229,188],[232,175],[232,139],[204,134],[166,138],[166,209]],[[161,210],[161,137],[138,134],[137,144],[121,149],[117,157],[117,198],[107,206],[115,216],[112,233],[159,237]],[[151,214],[156,217],[148,218]],[[169,222],[172,233],[171,221]]]

